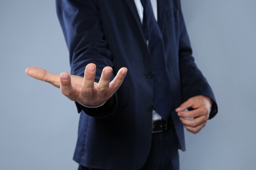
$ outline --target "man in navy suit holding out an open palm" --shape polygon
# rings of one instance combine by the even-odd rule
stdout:
[[[56,0],[71,75],[26,73],[80,113],[78,169],[179,169],[184,127],[217,114],[194,63],[179,0]]]

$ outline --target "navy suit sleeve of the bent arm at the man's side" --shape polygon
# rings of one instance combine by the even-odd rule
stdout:
[[[186,31],[186,26],[184,24],[182,12],[180,17],[179,67],[181,74],[182,97],[184,101],[196,95],[205,95],[211,98],[213,101],[209,116],[209,119],[211,119],[218,112],[215,96],[207,80],[194,62],[192,48]]]

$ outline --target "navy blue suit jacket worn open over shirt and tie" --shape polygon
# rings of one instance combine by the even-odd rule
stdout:
[[[70,52],[71,73],[83,76],[96,64],[98,81],[104,67],[128,73],[115,95],[102,107],[77,104],[80,114],[74,160],[86,167],[139,169],[152,139],[152,60],[134,0],[56,0],[58,19]],[[214,101],[213,92],[194,63],[179,0],[158,1],[158,24],[163,33],[175,108],[195,95]],[[113,75],[113,77],[114,77]],[[112,78],[113,78],[112,77]],[[170,110],[179,148],[185,150],[183,125]]]

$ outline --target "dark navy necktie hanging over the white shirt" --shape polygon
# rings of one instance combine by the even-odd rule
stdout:
[[[154,110],[165,120],[173,109],[173,96],[167,73],[167,61],[160,27],[156,22],[150,0],[140,0],[144,8],[143,23],[144,34],[148,40],[148,48],[153,64],[154,74]]]

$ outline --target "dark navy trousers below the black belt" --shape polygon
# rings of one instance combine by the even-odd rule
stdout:
[[[171,134],[171,135],[170,135]],[[153,133],[152,146],[146,163],[140,170],[179,170],[177,137],[173,129]],[[79,165],[78,170],[100,170]],[[102,169],[103,170],[103,169]]]

